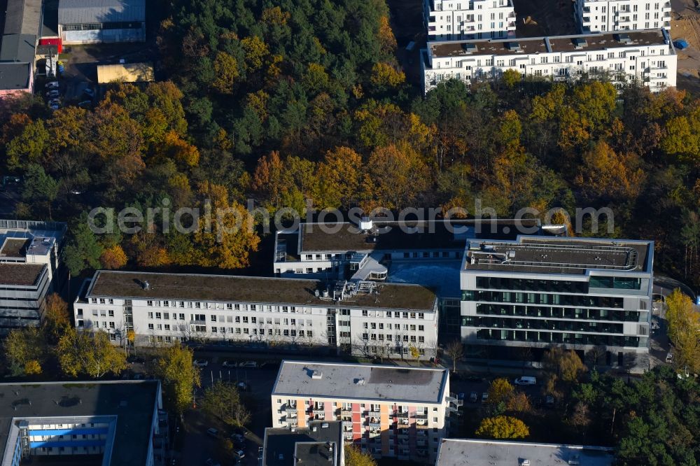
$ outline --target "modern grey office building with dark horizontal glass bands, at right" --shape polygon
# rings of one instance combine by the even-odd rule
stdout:
[[[608,362],[649,351],[651,241],[520,236],[470,241],[462,339],[479,346],[605,347]]]

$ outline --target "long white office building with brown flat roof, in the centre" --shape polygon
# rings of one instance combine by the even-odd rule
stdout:
[[[124,344],[189,339],[330,346],[407,355],[437,346],[437,298],[419,285],[97,271],[73,304],[76,326]]]

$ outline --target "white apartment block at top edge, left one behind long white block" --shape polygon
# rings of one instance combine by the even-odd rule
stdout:
[[[428,41],[515,36],[512,0],[423,0]]]

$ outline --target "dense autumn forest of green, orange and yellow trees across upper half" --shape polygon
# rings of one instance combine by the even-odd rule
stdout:
[[[571,218],[557,220],[579,234],[654,239],[657,270],[700,284],[700,102],[685,92],[507,73],[423,97],[383,0],[175,0],[161,12],[166,80],[112,85],[92,109],[1,104],[1,170],[25,178],[15,215],[71,222],[73,274],[246,267],[260,243],[261,219],[243,212],[252,198],[301,214],[307,199],[531,207],[543,220],[563,208]],[[167,228],[210,199],[244,230],[218,241]],[[94,207],[161,210],[152,228],[106,235],[80,226]],[[595,231],[576,208],[610,209],[610,230],[610,214]]]

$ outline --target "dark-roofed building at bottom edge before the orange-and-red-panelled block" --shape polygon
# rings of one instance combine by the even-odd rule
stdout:
[[[266,428],[260,466],[344,466],[339,421],[311,421],[303,428]]]

